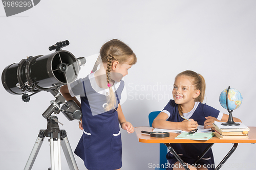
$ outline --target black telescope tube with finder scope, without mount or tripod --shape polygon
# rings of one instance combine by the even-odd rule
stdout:
[[[69,44],[66,41],[65,44]],[[53,46],[50,46],[51,49]],[[70,52],[59,50],[59,47],[56,50],[58,51],[49,55],[30,56],[7,66],[2,74],[5,89],[11,94],[47,91],[53,86],[76,80],[80,65],[86,63],[86,59],[75,58]]]

